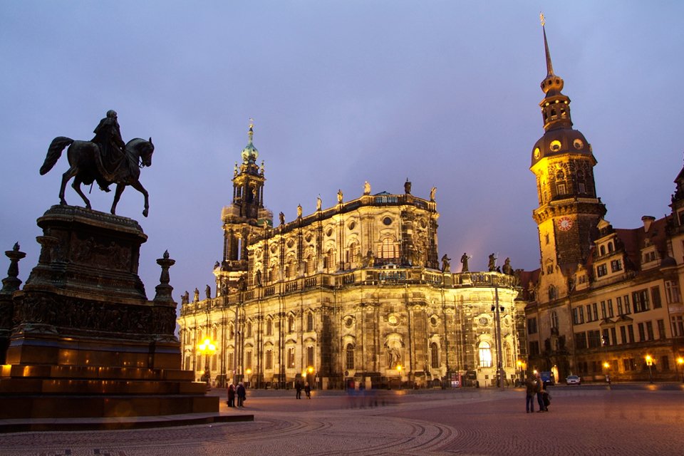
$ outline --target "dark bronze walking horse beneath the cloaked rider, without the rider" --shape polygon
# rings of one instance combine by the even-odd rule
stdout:
[[[118,167],[113,172],[108,172],[103,169],[100,160],[100,147],[95,142],[75,141],[71,138],[58,136],[52,140],[48,148],[48,155],[45,157],[43,166],[41,166],[41,175],[46,174],[46,172],[52,169],[66,146],[69,146],[67,157],[70,167],[62,175],[62,186],[59,190],[60,204],[66,204],[64,190],[66,189],[66,183],[72,177],[71,187],[73,187],[73,190],[76,190],[78,195],[81,195],[83,201],[86,202],[87,209],[90,209],[90,201],[81,191],[81,184],[90,185],[97,181],[100,188],[108,192],[108,185],[115,183],[114,203],[110,211],[112,214],[115,214],[116,204],[119,202],[123,190],[125,190],[127,185],[130,185],[145,197],[145,210],[142,211],[142,215],[147,217],[147,212],[150,209],[150,204],[147,200],[148,194],[145,187],[142,187],[142,184],[140,184],[139,179],[140,168],[152,165],[152,152],[155,151],[152,138],[149,141],[140,138],[128,141],[125,147],[125,155],[122,155]]]

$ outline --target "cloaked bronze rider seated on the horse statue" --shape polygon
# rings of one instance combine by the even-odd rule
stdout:
[[[107,182],[98,180],[100,189],[109,192],[109,185],[115,181],[116,172],[125,158],[125,142],[121,138],[121,130],[115,110],[108,110],[107,117],[93,130],[93,142],[100,147],[97,160],[98,168]]]

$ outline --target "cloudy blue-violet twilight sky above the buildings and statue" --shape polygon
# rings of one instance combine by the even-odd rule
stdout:
[[[683,163],[684,2],[541,2],[574,127],[598,160],[596,190],[619,228],[669,212]],[[539,266],[532,146],[544,133],[539,2],[0,0],[0,252],[38,261],[36,226],[58,204],[66,152],[38,175],[56,136],[93,137],[118,112],[123,139],[155,142],[152,167],[118,214],[137,219],[152,299],[165,249],[174,298],[214,289],[220,214],[254,118],[266,206],[286,220],[363,192],[426,198],[437,187],[439,254],[460,271],[498,252]],[[86,189],[87,192],[87,189]],[[93,188],[108,212],[113,192]],[[83,205],[71,187],[69,204]],[[276,222],[277,223],[277,222]],[[9,260],[0,261],[6,276]]]

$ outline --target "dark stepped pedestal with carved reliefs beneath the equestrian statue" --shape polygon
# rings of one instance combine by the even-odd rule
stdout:
[[[138,223],[53,206],[38,226],[38,265],[11,292],[0,418],[217,413],[219,398],[180,369],[167,254],[157,297],[147,301],[138,277],[147,236]],[[9,296],[1,297],[6,312]]]

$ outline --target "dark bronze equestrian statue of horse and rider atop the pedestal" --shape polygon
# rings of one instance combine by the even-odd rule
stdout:
[[[53,168],[61,157],[64,147],[68,146],[69,169],[62,175],[62,185],[59,189],[60,204],[66,205],[64,191],[67,182],[72,178],[71,187],[81,196],[87,209],[91,209],[90,201],[83,194],[81,184],[90,185],[97,181],[100,190],[109,192],[109,186],[115,183],[114,202],[110,210],[112,214],[115,214],[116,204],[123,190],[130,185],[145,197],[145,210],[142,211],[142,215],[147,217],[150,203],[147,190],[140,184],[140,168],[152,165],[152,152],[155,151],[152,138],[148,141],[135,138],[124,143],[121,139],[117,115],[113,110],[107,111],[106,117],[100,120],[94,133],[95,137],[90,141],[72,140],[65,136],[53,139],[45,162],[41,166],[41,175]]]

